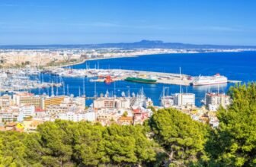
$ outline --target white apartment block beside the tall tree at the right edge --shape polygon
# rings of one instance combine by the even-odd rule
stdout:
[[[206,93],[206,109],[216,112],[219,106],[226,108],[230,105],[230,96],[225,93]]]

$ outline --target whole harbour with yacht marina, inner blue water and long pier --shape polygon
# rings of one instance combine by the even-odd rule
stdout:
[[[214,76],[199,77],[208,80],[214,79]],[[180,87],[182,87],[183,93],[196,93],[196,105],[200,106],[200,100],[203,99],[203,94],[206,91],[217,90],[218,86],[219,90],[226,92],[227,85],[240,82],[224,77],[226,83],[193,85],[194,80],[198,77],[188,74],[97,68],[5,68],[0,72],[0,77],[0,93],[27,91],[51,96],[54,91],[55,94],[59,95],[74,94],[80,96],[84,94],[88,104],[95,99],[98,93],[106,90],[109,90],[111,94],[117,93],[120,96],[122,91],[137,93],[141,87],[145,88],[146,94],[157,91],[155,95],[150,97],[155,104],[159,104],[158,99],[161,96],[162,87],[169,87],[170,93],[180,92]]]

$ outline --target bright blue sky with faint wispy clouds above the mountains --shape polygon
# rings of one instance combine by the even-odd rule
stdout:
[[[254,0],[0,0],[0,45],[256,46]]]

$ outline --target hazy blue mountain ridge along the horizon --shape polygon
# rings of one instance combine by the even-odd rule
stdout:
[[[164,43],[161,40],[143,39],[136,43],[101,43],[85,45],[24,45],[24,46],[0,46],[0,49],[75,49],[75,48],[122,48],[122,49],[256,49],[256,46],[220,46],[220,45],[195,45],[187,43]]]

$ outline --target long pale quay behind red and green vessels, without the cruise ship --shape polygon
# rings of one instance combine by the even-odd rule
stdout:
[[[104,82],[109,76],[111,81],[125,80],[127,77],[139,77],[142,79],[157,80],[156,83],[166,83],[188,86],[191,83],[187,74],[174,74],[153,71],[133,71],[123,69],[70,69],[48,68],[47,72],[60,77],[97,77],[92,82]]]

